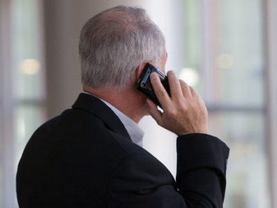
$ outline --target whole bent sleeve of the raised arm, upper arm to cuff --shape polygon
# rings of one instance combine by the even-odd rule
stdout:
[[[179,137],[177,139],[177,182],[170,171],[150,153],[136,151],[127,155],[111,175],[107,207],[222,207],[225,177],[217,170],[219,168],[217,164],[213,164],[217,162],[211,161],[211,167],[206,166],[207,164],[203,161],[206,155],[199,153],[198,149],[195,149],[199,153],[197,158],[195,157],[197,153],[190,155],[186,152],[190,149],[187,145],[196,148],[198,142],[203,142],[199,140],[200,138],[212,140],[207,142],[212,144],[206,147],[206,154],[209,157],[213,157],[216,161],[220,159],[218,157],[222,157],[216,153],[215,155],[209,154],[213,153],[214,148],[222,150],[225,147],[223,143],[214,147],[213,140],[216,140],[214,137],[208,135]],[[185,140],[191,140],[192,144],[186,144]],[[190,161],[188,157],[192,160]],[[197,159],[202,161],[197,161]]]

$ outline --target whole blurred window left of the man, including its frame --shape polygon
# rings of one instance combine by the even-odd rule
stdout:
[[[0,207],[12,208],[19,157],[44,120],[42,12],[36,0],[0,0],[0,9]]]

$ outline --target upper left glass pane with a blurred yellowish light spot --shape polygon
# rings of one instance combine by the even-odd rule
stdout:
[[[43,98],[38,1],[12,0],[12,68],[16,98]]]

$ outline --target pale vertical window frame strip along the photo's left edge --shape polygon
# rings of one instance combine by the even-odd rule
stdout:
[[[10,1],[0,1],[1,18],[1,98],[0,98],[0,110],[1,110],[1,193],[2,200],[1,205],[3,207],[15,207],[15,177],[11,174],[13,170],[13,164],[10,161],[14,159],[13,140],[14,130],[12,128],[13,122],[13,103],[12,103],[12,73],[11,69],[11,47],[10,47]]]

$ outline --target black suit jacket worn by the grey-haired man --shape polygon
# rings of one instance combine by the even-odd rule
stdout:
[[[38,128],[17,171],[21,208],[222,207],[229,148],[210,135],[177,138],[177,182],[89,94]]]

